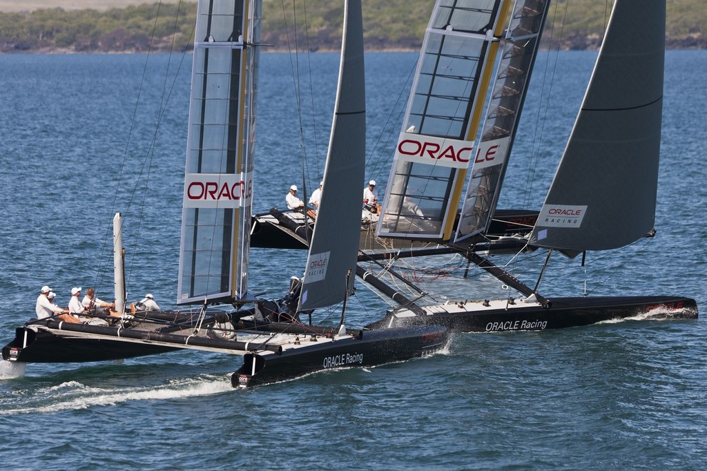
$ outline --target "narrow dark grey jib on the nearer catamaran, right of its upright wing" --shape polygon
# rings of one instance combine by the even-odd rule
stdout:
[[[361,1],[346,1],[332,134],[298,310],[332,306],[351,294],[361,233],[366,166],[366,91]]]

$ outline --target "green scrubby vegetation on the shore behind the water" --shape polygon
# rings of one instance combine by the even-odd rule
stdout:
[[[419,48],[433,3],[432,0],[364,0],[367,50]],[[553,42],[559,43],[555,47],[563,49],[597,47],[611,4],[612,0],[556,0],[545,42],[552,37]],[[667,0],[668,47],[707,48],[707,36],[703,35],[707,8],[703,6],[704,0]],[[274,45],[274,49],[339,48],[343,1],[264,0],[263,9],[263,40]],[[185,2],[105,11],[47,8],[0,12],[0,52],[183,50],[193,42],[196,10],[195,2]],[[297,25],[296,30],[293,25]]]

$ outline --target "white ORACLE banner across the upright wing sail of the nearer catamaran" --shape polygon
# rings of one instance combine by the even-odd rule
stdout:
[[[187,208],[238,208],[250,206],[253,175],[187,173],[184,205]]]

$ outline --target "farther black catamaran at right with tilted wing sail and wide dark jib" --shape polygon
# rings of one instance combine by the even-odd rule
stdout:
[[[585,257],[655,234],[665,1],[650,8],[641,0],[614,1],[542,208],[527,231],[492,229],[549,6],[549,0],[436,1],[375,233],[375,248],[387,250],[362,243],[368,250],[358,257],[359,277],[393,306],[368,327],[501,332],[634,316],[697,317],[696,302],[684,296],[546,297],[539,291],[553,252]],[[547,250],[534,287],[489,256],[533,250]],[[465,272],[476,265],[514,293],[487,298],[472,286],[464,298],[434,302],[401,265],[443,254],[457,254],[467,262]],[[450,284],[440,284],[445,289]]]

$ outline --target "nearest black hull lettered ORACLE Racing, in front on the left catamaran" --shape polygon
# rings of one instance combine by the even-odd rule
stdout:
[[[234,388],[298,378],[315,371],[360,368],[404,361],[445,347],[448,330],[438,325],[364,330],[361,338],[344,337],[331,344],[313,344],[306,351],[249,353],[231,376]]]

